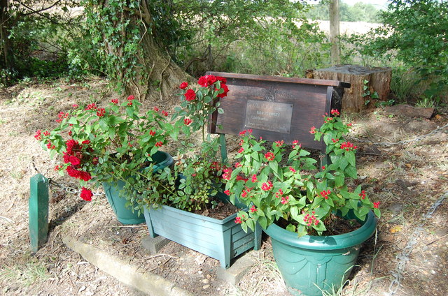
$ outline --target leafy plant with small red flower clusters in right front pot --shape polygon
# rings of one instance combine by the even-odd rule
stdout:
[[[248,212],[239,212],[235,223],[253,230],[257,222],[267,228],[283,220],[286,229],[299,236],[322,235],[336,212],[345,216],[352,210],[360,221],[371,209],[381,215],[379,202],[372,202],[360,186],[353,190],[347,185],[357,177],[357,147],[344,140],[351,124],[344,124],[338,115],[332,110],[330,116],[325,114],[320,128],[311,128],[315,140],[323,137],[331,160],[319,171],[316,160],[298,140],[293,141],[287,154],[283,141],[272,143],[267,151],[265,141],[255,139],[250,130],[240,133],[241,147],[235,156],[239,162],[223,174],[230,200],[239,198],[250,207]]]

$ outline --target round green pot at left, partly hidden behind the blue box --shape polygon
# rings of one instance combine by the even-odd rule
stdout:
[[[163,168],[167,168],[169,165],[172,165],[174,160],[172,156],[167,154],[164,151],[157,151],[153,155],[153,170],[160,170]],[[106,193],[106,198],[109,204],[111,205],[113,212],[115,212],[117,216],[117,220],[123,224],[140,224],[145,222],[145,217],[143,214],[138,214],[137,211],[133,211],[134,207],[137,207],[137,202],[134,202],[133,205],[126,207],[127,199],[120,194],[120,191],[123,191],[123,187],[125,186],[125,182],[119,180],[118,182],[104,182],[103,188]]]

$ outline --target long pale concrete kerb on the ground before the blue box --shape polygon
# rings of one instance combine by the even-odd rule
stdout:
[[[140,272],[137,270],[137,267],[129,262],[111,256],[95,246],[85,244],[69,236],[63,237],[62,241],[71,250],[79,253],[85,260],[103,272],[143,293],[154,296],[193,296],[193,294],[177,287],[176,284],[167,281],[162,276],[152,274],[151,272]]]

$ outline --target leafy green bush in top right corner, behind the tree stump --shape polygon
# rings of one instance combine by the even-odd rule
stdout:
[[[352,38],[361,54],[398,59],[426,80],[424,94],[440,100],[448,83],[448,3],[393,0],[380,14],[383,27]]]

